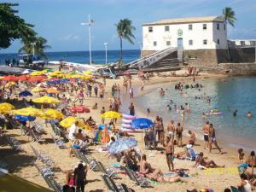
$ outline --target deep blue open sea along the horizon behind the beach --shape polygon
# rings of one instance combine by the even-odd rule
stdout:
[[[0,54],[0,63],[4,64],[5,59],[16,60],[19,54]],[[66,51],[66,52],[46,52],[48,61],[69,61],[77,63],[89,63],[89,51]],[[92,61],[95,64],[105,64],[105,50],[94,50],[91,52]],[[123,61],[125,63],[137,60],[140,57],[139,49],[123,50]],[[108,63],[119,61],[119,50],[108,50]]]

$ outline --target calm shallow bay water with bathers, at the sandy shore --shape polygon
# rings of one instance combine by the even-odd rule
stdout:
[[[176,124],[181,122],[185,129],[199,133],[202,132],[205,121],[209,120],[217,131],[218,139],[224,140],[231,147],[255,149],[256,77],[228,78],[225,82],[218,79],[203,79],[196,83],[203,84],[203,88],[184,89],[183,92],[186,92],[187,96],[181,96],[172,83],[163,86],[165,96],[160,96],[159,90],[153,90],[137,98],[137,103],[145,111],[146,108],[150,108],[151,112],[159,114],[165,122],[174,119]],[[195,99],[195,96],[211,96],[212,101],[207,103],[206,99]],[[170,103],[171,99],[173,104]],[[181,114],[174,109],[174,103],[185,106],[186,102],[189,103],[191,112],[185,113],[185,118],[182,119]],[[171,111],[166,108],[168,104],[172,106]],[[214,108],[223,114],[202,118],[203,112],[208,113]],[[236,117],[233,117],[234,110],[238,110]],[[246,117],[248,111],[253,113],[252,119]]]

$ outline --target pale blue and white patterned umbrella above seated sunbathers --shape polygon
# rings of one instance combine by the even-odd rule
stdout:
[[[110,154],[119,154],[122,151],[134,148],[137,146],[137,140],[134,138],[120,138],[110,145],[108,152]]]

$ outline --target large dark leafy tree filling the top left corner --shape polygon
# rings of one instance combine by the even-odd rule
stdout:
[[[18,13],[14,7],[18,3],[0,3],[0,49],[6,49],[15,39],[21,38],[24,41],[36,36],[32,29],[33,25],[15,14]]]

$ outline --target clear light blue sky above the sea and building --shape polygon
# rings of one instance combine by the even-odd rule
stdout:
[[[120,19],[132,20],[136,27],[134,44],[124,42],[124,49],[139,49],[142,24],[156,20],[222,15],[224,7],[236,12],[235,27],[228,27],[228,38],[255,38],[256,0],[0,0],[0,3],[20,3],[20,17],[34,26],[38,36],[48,40],[48,51],[76,51],[89,49],[88,15],[95,23],[91,26],[92,50],[119,49],[119,38],[114,24]],[[15,40],[2,53],[20,49]]]

